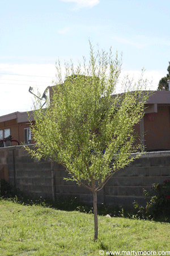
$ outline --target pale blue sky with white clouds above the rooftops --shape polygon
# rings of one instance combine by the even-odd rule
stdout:
[[[122,76],[141,69],[156,90],[170,57],[169,0],[0,0],[0,116],[32,109],[55,63],[88,60],[89,42],[122,53]]]

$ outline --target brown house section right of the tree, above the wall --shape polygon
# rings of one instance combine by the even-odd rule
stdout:
[[[50,86],[52,98],[54,86]],[[170,91],[156,90],[148,98],[145,115],[134,126],[146,151],[170,150]]]

